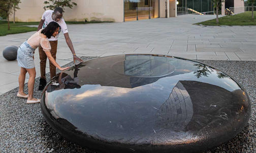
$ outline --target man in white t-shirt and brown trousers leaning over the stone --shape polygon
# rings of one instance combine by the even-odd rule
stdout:
[[[83,60],[76,56],[73,44],[69,37],[67,24],[66,24],[65,20],[62,18],[62,16],[63,16],[63,10],[60,7],[55,8],[54,11],[52,11],[52,10],[45,11],[42,16],[42,19],[38,25],[38,30],[45,28],[48,25],[48,23],[50,23],[51,21],[57,22],[60,25],[61,31],[63,32],[63,34],[65,36],[66,43],[69,46],[70,51],[73,54],[74,62],[75,62],[75,60],[82,62]],[[50,52],[51,52],[52,57],[55,60],[56,60],[57,43],[58,43],[57,39],[58,39],[58,35],[56,35],[55,37],[52,36],[49,39],[49,42],[51,45]],[[45,52],[43,51],[42,47],[39,47],[39,57],[40,57],[41,78],[40,78],[40,84],[39,84],[38,90],[43,90],[44,87],[46,86],[45,65],[46,65],[47,56],[46,56]],[[50,65],[50,75],[51,75],[51,78],[53,78],[56,75],[56,67],[51,62],[49,62],[49,65]]]

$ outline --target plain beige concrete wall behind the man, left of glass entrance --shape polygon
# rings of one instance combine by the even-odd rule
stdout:
[[[20,10],[15,13],[16,21],[40,21],[44,13],[45,0],[21,0]],[[63,18],[66,21],[101,20],[123,22],[122,0],[73,0],[77,3],[73,9],[65,8]],[[13,15],[10,15],[10,20]]]

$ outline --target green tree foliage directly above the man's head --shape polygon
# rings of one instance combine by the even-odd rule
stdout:
[[[71,2],[71,0],[48,0],[45,1],[44,4],[46,4],[44,7],[45,10],[46,8],[53,10],[56,7],[60,7],[64,10],[64,7],[72,9],[73,6],[77,6],[77,4],[75,2]]]

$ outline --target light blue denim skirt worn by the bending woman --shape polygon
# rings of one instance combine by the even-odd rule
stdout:
[[[34,68],[34,52],[36,49],[32,48],[27,41],[20,45],[17,52],[17,61],[20,67]]]

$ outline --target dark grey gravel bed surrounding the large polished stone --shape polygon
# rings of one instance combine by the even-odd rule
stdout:
[[[82,57],[84,60],[91,58]],[[256,61],[202,62],[226,72],[238,81],[246,89],[252,103],[251,117],[246,128],[235,138],[205,153],[256,152]],[[39,78],[36,79],[34,96],[40,98],[42,92],[37,90],[38,85]],[[17,92],[18,88],[15,88],[0,96],[0,152],[97,152],[61,137],[44,120],[40,104],[26,104],[25,99],[16,96]]]

